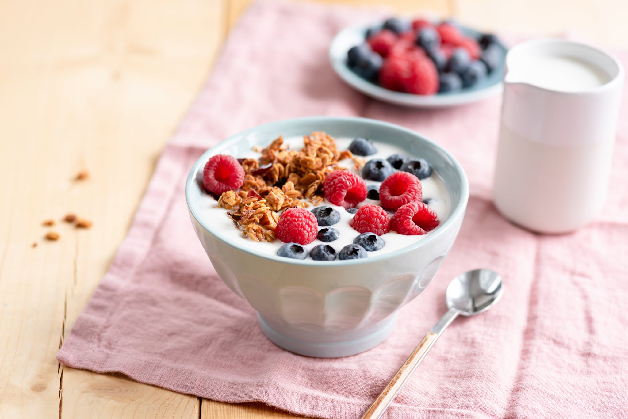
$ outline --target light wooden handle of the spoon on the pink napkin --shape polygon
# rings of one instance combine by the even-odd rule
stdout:
[[[384,413],[388,405],[390,405],[391,401],[393,401],[397,393],[399,393],[399,390],[401,390],[401,387],[403,387],[403,384],[406,383],[406,380],[414,372],[416,366],[420,364],[428,351],[430,351],[436,339],[438,339],[438,334],[433,332],[428,332],[428,334],[425,335],[419,346],[414,349],[414,352],[412,352],[408,359],[406,359],[406,362],[399,368],[397,374],[394,374],[393,379],[391,379],[386,388],[379,393],[379,396],[377,396],[371,407],[369,407],[369,410],[362,415],[362,419],[379,418],[379,416]]]

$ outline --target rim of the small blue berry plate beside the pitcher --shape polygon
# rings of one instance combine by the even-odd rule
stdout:
[[[347,85],[350,87],[362,92],[363,94],[372,97],[374,99],[379,99],[380,101],[384,101],[387,103],[392,103],[400,106],[408,106],[408,107],[425,107],[425,108],[437,108],[437,107],[449,107],[449,106],[458,106],[463,104],[468,104],[472,102],[481,101],[483,99],[487,99],[494,95],[501,93],[504,88],[504,75],[502,74],[501,80],[499,82],[495,82],[495,84],[488,85],[483,89],[472,90],[470,92],[461,92],[456,94],[446,94],[446,95],[416,95],[404,92],[395,92],[394,90],[384,89],[383,87],[373,84],[367,80],[362,79],[359,75],[352,72],[349,67],[347,67],[344,59],[339,59],[334,51],[338,48],[337,43],[347,36],[348,33],[352,33],[355,31],[365,31],[368,28],[372,28],[374,26],[381,26],[381,21],[378,23],[371,24],[354,24],[352,26],[347,26],[340,32],[338,32],[334,37],[332,42],[328,48],[328,58],[329,62],[332,65],[333,71],[342,79]],[[463,31],[468,33],[479,34],[480,32],[474,30],[473,28],[469,28],[467,26],[458,25]],[[504,52],[504,63],[506,60],[506,53],[508,52],[508,48],[501,41],[497,41],[500,48],[502,48]],[[346,52],[345,52],[346,54]],[[505,64],[504,64],[505,68]]]

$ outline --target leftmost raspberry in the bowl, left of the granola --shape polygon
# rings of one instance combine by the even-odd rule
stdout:
[[[203,169],[203,187],[207,192],[220,195],[228,190],[236,190],[244,183],[244,169],[235,158],[228,155],[215,155],[207,160]]]

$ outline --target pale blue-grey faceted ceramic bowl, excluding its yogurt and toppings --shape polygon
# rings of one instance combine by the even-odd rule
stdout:
[[[202,214],[203,166],[217,154],[242,155],[283,134],[325,131],[395,144],[429,161],[452,198],[449,217],[425,239],[380,256],[345,261],[296,260],[257,254],[225,241]],[[272,122],[232,136],[205,152],[187,179],[193,227],[224,283],[255,310],[275,344],[306,356],[340,357],[366,351],[391,334],[397,310],[430,283],[455,240],[467,207],[467,177],[436,143],[401,126],[364,118],[305,117]],[[242,239],[244,240],[244,239]]]

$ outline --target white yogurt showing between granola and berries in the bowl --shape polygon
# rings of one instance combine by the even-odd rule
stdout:
[[[352,140],[353,138],[336,138],[338,150],[347,150]],[[301,148],[303,148],[303,137],[284,138],[284,144],[288,144],[291,150],[301,150]],[[377,153],[375,155],[365,157],[364,159],[367,161],[373,158],[382,158],[385,160],[388,156],[395,153],[401,153],[403,155],[409,156],[410,158],[421,157],[408,155],[408,153],[404,152],[401,148],[398,148],[391,144],[377,142],[374,142],[374,144],[377,148]],[[251,151],[250,153],[246,153],[246,155],[244,156],[236,156],[236,158],[259,158],[259,156],[259,153]],[[348,170],[360,174],[360,171],[353,170],[354,162],[350,159],[340,161],[340,165],[347,167]],[[365,180],[365,182],[367,185],[381,183],[375,182],[373,180]],[[438,220],[440,220],[440,223],[443,224],[443,222],[445,222],[445,220],[449,216],[451,210],[451,197],[448,193],[447,188],[445,187],[445,183],[440,177],[438,177],[435,171],[432,171],[430,177],[421,180],[421,186],[423,187],[423,199],[431,199],[428,205],[436,212],[436,214],[438,215]],[[379,200],[376,201],[366,199],[363,202],[360,202],[358,207],[361,207],[365,204],[381,205],[381,202]],[[333,224],[333,226],[328,226],[330,228],[336,229],[340,233],[340,236],[338,237],[338,239],[332,242],[322,242],[316,239],[315,241],[307,244],[304,247],[309,252],[314,246],[317,246],[318,244],[329,244],[338,253],[340,249],[342,249],[347,244],[352,244],[355,237],[360,234],[349,225],[349,220],[352,219],[354,214],[350,214],[343,207],[338,207],[337,205],[330,204],[330,202],[328,202],[327,200],[324,200],[322,204],[318,206],[332,207],[340,213],[340,221],[338,221],[336,224]],[[270,243],[256,242],[250,239],[245,239],[244,237],[242,237],[242,232],[234,227],[233,222],[229,219],[229,217],[227,217],[227,210],[217,207],[217,202],[210,195],[202,195],[200,200],[200,207],[202,208],[201,217],[203,221],[214,227],[216,231],[219,231],[219,234],[222,236],[222,238],[225,239],[225,241],[234,244],[237,243],[240,246],[245,246],[252,251],[263,254],[277,254],[278,249],[284,244],[279,240]],[[308,210],[311,210],[313,208],[314,207],[308,207]],[[318,227],[319,230],[324,228],[326,227]],[[438,228],[439,227],[436,227],[436,229]],[[432,230],[431,232],[435,230]],[[382,239],[386,241],[384,247],[376,252],[369,252],[369,255],[394,252],[396,250],[409,246],[410,244],[425,239],[425,237],[429,236],[431,232],[423,234],[422,236],[403,236],[402,234],[398,234],[394,231],[387,232],[386,234],[383,234],[381,236]]]

